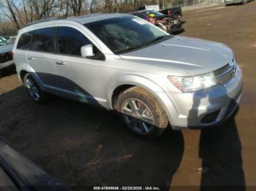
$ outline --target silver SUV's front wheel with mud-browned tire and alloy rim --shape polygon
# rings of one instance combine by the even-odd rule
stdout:
[[[121,93],[116,109],[129,129],[141,138],[156,139],[167,128],[167,116],[159,101],[140,87]]]

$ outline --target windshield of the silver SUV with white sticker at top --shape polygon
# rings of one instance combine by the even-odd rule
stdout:
[[[89,28],[115,54],[147,46],[163,37],[170,37],[145,20],[130,15],[86,23],[84,26]]]

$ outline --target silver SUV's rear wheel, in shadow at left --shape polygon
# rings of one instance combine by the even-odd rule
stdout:
[[[31,74],[26,74],[23,77],[23,83],[26,88],[26,92],[29,94],[29,98],[32,101],[42,104],[46,103],[50,99],[50,95],[41,90],[37,82],[31,77]]]

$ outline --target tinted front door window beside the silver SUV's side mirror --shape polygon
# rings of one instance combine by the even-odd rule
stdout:
[[[81,55],[81,47],[91,44],[80,31],[75,28],[61,26],[58,28],[58,51],[61,54]]]

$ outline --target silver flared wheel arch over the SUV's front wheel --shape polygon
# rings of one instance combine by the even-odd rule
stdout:
[[[173,103],[173,99],[170,98],[168,93],[156,82],[148,79],[140,74],[122,74],[110,82],[106,89],[106,98],[108,101],[108,106],[110,109],[113,109],[112,95],[116,87],[121,85],[135,85],[142,87],[147,90],[149,93],[154,95],[155,98],[159,101],[163,109],[165,110],[170,124],[173,123],[173,116],[171,114],[177,114],[177,109]]]

